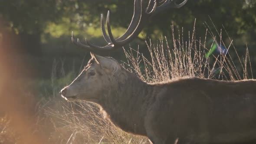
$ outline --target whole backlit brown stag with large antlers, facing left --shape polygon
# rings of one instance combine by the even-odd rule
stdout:
[[[167,8],[182,7],[187,0],[135,0],[127,31],[115,39],[109,11],[108,43],[72,42],[91,52],[92,59],[81,74],[61,90],[68,101],[83,100],[101,106],[122,130],[147,136],[153,144],[251,143],[256,139],[256,81],[218,81],[180,78],[147,83],[123,68],[115,59],[100,56],[130,43],[146,21]]]

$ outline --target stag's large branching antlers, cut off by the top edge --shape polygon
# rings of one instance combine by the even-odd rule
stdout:
[[[122,46],[125,46],[126,44],[130,43],[136,36],[138,36],[139,33],[141,33],[141,30],[143,29],[143,26],[145,22],[153,16],[156,13],[159,13],[160,11],[163,11],[162,8],[165,10],[167,8],[180,8],[185,3],[187,3],[187,0],[184,0],[182,3],[177,4],[176,0],[149,0],[148,7],[143,8],[142,3],[144,0],[135,0],[134,1],[134,12],[133,17],[131,20],[131,23],[126,30],[126,32],[120,36],[119,38],[115,39],[111,26],[110,26],[110,19],[109,19],[109,10],[107,14],[107,30],[108,35],[105,30],[105,25],[103,23],[103,14],[101,14],[101,27],[102,27],[102,34],[105,39],[105,41],[108,43],[106,46],[96,46],[92,43],[86,42],[86,44],[83,44],[77,39],[73,38],[72,33],[72,43],[75,45],[82,47],[83,49],[94,52],[94,53],[104,53],[104,52],[111,52],[115,49],[121,48]],[[145,10],[143,10],[145,9]]]

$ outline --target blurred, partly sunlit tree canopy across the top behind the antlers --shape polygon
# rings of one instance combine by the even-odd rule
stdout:
[[[181,0],[182,1],[182,0]],[[100,13],[111,11],[115,35],[128,27],[133,12],[133,1],[128,0],[1,0],[1,28],[16,34],[27,33],[51,37],[70,36],[71,31],[86,37],[100,37]],[[194,20],[203,36],[203,23],[213,21],[217,29],[226,29],[237,43],[256,45],[255,0],[188,0],[180,9],[164,11],[145,26],[142,38],[159,39],[171,35],[171,24],[191,30]],[[213,28],[213,26],[210,26]],[[241,44],[240,43],[240,44]]]

